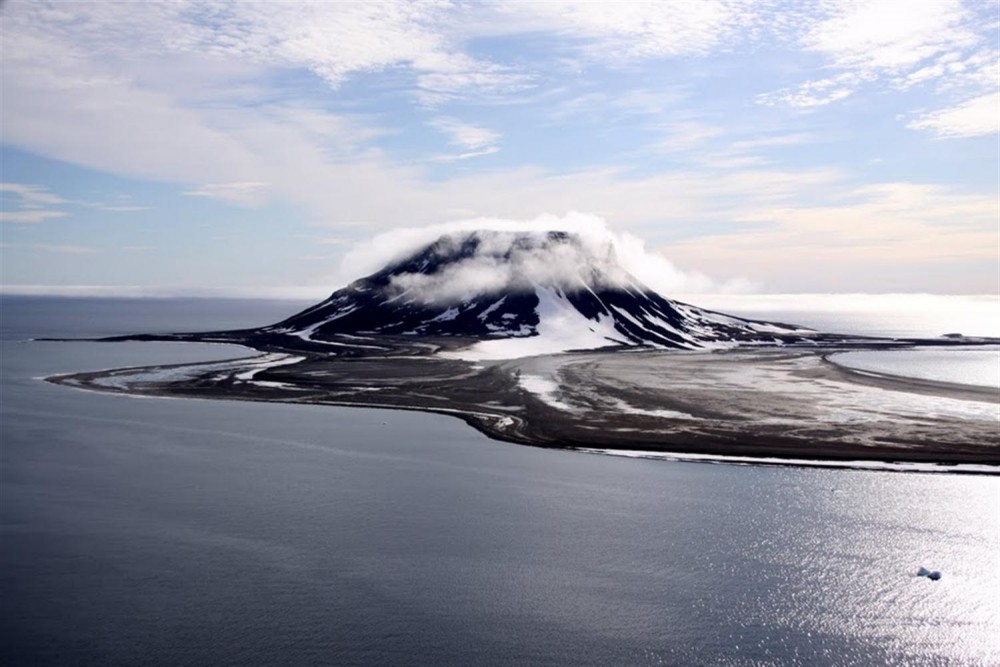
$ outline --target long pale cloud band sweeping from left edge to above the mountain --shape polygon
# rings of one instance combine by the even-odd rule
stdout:
[[[625,225],[719,219],[720,202],[727,199],[753,203],[801,195],[830,176],[825,170],[762,170],[724,179],[697,173],[629,178],[614,168],[521,168],[432,181],[416,166],[353,146],[352,137],[372,130],[349,118],[316,108],[306,113],[288,103],[187,105],[183,82],[148,90],[113,76],[114,67],[85,49],[39,39],[10,49],[14,55],[5,61],[4,136],[12,143],[236,203],[280,197],[332,226],[432,223],[453,217],[455,209],[511,218],[578,209]],[[489,138],[465,135],[470,143]],[[265,183],[270,187],[259,187]]]

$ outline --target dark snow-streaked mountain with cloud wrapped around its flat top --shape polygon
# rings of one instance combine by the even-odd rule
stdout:
[[[333,344],[345,336],[460,337],[487,346],[518,339],[529,353],[774,344],[812,333],[667,299],[631,275],[612,245],[563,231],[442,236],[261,331]]]

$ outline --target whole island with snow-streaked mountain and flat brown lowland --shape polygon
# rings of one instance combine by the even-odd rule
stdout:
[[[1000,472],[1000,395],[860,371],[849,350],[995,346],[816,332],[672,301],[569,232],[442,237],[258,329],[219,362],[49,378],[156,396],[422,410],[627,456]],[[921,467],[922,466],[922,467]]]

